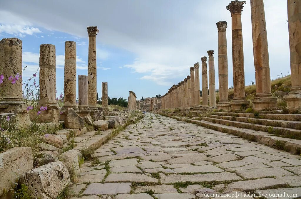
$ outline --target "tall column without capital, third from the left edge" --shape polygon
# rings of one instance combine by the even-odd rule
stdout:
[[[64,106],[61,109],[61,120],[64,120],[64,112],[72,108],[76,112],[79,109],[76,104],[76,43],[65,42],[65,67],[64,67]]]

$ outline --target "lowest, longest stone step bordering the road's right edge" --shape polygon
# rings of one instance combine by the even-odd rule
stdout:
[[[179,116],[169,116],[169,117],[177,119],[179,121],[185,121],[209,129],[236,135],[244,139],[248,139],[254,142],[258,142],[281,150],[285,150],[292,154],[300,154],[301,140],[299,139],[278,137],[262,131],[256,131],[247,128],[237,128],[237,127],[227,126],[224,124],[216,124],[209,121],[193,120],[193,119],[179,117]]]

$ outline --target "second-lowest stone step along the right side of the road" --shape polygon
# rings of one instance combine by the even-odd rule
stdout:
[[[265,126],[262,124],[252,124],[252,123],[246,123],[246,122],[230,121],[230,120],[209,118],[209,117],[201,117],[200,119],[209,121],[209,122],[213,122],[213,123],[217,123],[217,124],[227,125],[227,126],[268,132],[268,133],[271,133],[270,135],[274,134],[274,136],[281,136],[281,137],[293,138],[293,139],[301,139],[301,130],[296,130],[296,129],[291,129],[291,128],[270,127],[270,126]]]

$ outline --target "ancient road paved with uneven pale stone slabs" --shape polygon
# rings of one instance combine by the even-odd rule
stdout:
[[[161,115],[144,116],[95,151],[101,164],[84,163],[76,194],[84,199],[208,198],[204,194],[251,190],[301,195],[300,156]]]

